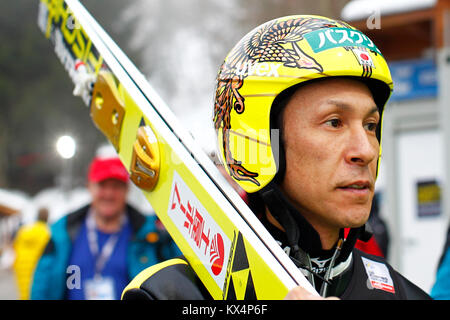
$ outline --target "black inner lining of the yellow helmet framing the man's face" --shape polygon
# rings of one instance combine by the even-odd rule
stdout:
[[[361,77],[352,77],[352,76],[343,76],[342,78],[351,78],[354,80],[361,81],[364,83],[372,93],[373,100],[378,107],[380,112],[380,116],[383,115],[384,105],[386,104],[389,96],[390,96],[390,88],[382,81],[377,79],[370,78],[361,78]],[[301,87],[306,86],[311,83],[326,81],[328,78],[318,78],[306,82],[301,82],[296,85],[293,85],[284,91],[282,91],[273,101],[272,107],[270,109],[270,129],[278,130],[278,141],[274,141],[277,136],[271,135],[271,144],[276,145],[278,143],[278,152],[276,150],[272,150],[275,155],[275,163],[277,166],[277,173],[273,178],[273,182],[280,185],[283,181],[284,175],[286,173],[286,156],[285,156],[285,148],[284,148],[284,138],[283,138],[283,114],[285,107],[291,100],[294,93]],[[378,126],[376,131],[376,136],[378,141],[381,143],[381,124]]]

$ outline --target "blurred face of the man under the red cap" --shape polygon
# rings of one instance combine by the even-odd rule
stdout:
[[[125,208],[128,185],[116,179],[90,182],[88,189],[92,196],[92,207],[105,219],[117,217]]]

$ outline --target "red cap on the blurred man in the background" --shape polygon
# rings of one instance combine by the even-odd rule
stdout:
[[[119,158],[94,158],[89,167],[88,180],[100,182],[116,179],[128,183],[128,172]]]

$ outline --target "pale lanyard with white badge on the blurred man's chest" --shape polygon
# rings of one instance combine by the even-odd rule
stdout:
[[[122,215],[120,229],[125,222],[126,215],[124,214]],[[86,226],[89,250],[94,257],[95,270],[94,278],[85,281],[85,297],[87,300],[113,300],[115,299],[114,280],[111,277],[102,276],[101,273],[114,252],[120,232],[111,234],[100,251],[97,231],[95,230],[95,219],[92,212],[89,212],[87,215]]]

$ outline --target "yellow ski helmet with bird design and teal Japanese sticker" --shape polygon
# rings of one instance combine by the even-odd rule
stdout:
[[[277,173],[278,131],[271,132],[271,111],[279,94],[307,81],[343,76],[368,85],[382,116],[393,89],[388,65],[375,44],[345,22],[282,17],[235,45],[217,75],[213,121],[219,156],[245,191],[261,190]],[[381,132],[377,137],[381,142]]]

